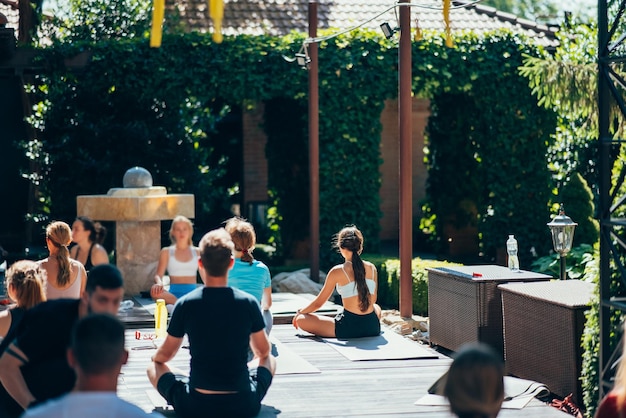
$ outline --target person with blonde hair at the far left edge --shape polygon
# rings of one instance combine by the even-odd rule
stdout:
[[[0,353],[13,340],[12,336],[24,312],[46,300],[43,272],[34,261],[20,260],[13,263],[7,271],[5,283],[7,295],[15,304],[0,312]]]

